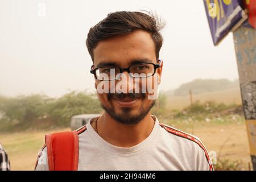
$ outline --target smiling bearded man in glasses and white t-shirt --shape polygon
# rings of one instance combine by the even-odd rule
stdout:
[[[160,123],[150,113],[162,76],[163,61],[159,60],[162,27],[154,15],[119,11],[90,28],[86,40],[93,61],[90,72],[105,111],[76,131],[79,156],[74,157],[77,164],[72,160],[72,165],[77,165],[75,169],[213,169],[198,138]],[[67,164],[56,164],[56,161],[72,157],[58,158],[56,147],[49,152],[51,142],[58,146],[68,144],[63,142],[63,137],[59,138],[60,142],[56,142],[48,137],[36,170],[55,170],[57,165],[58,169],[67,169],[63,168]],[[71,147],[65,148],[61,151],[72,151]]]

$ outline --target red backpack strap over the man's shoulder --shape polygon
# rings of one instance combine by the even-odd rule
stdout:
[[[49,171],[77,171],[79,139],[77,131],[46,135]]]

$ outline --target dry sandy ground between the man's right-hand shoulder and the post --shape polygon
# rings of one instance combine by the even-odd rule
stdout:
[[[249,142],[244,124],[196,127],[194,135],[199,137],[209,151],[216,151],[221,159],[250,162]]]

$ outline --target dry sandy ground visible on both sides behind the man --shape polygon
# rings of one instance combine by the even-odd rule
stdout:
[[[44,144],[44,135],[67,130],[70,129],[0,134],[0,141],[9,154],[11,170],[34,170],[36,156]],[[196,125],[193,129],[183,127],[184,130],[199,137],[207,150],[216,151],[220,158],[250,162],[245,123],[207,123]]]

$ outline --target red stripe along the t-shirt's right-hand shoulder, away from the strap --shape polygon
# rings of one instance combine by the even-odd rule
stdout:
[[[166,129],[169,133],[175,134],[175,135],[177,135],[177,136],[179,136],[179,137],[187,138],[187,139],[191,140],[192,142],[197,143],[197,144],[204,150],[205,157],[207,158],[207,162],[208,162],[208,164],[209,164],[209,169],[210,169],[210,171],[213,171],[213,166],[212,166],[212,163],[210,162],[210,157],[209,157],[208,152],[207,152],[206,148],[204,147],[203,143],[201,143],[198,139],[196,139],[195,137],[193,137],[193,136],[191,136],[191,135],[188,135],[188,134],[186,134],[186,133],[183,133],[183,132],[181,132],[181,131],[179,131],[179,130],[175,130],[175,129],[173,129],[173,128],[167,126],[167,125],[164,125],[163,123],[160,123],[160,122],[159,122],[159,124],[160,124],[160,126],[162,126],[164,129]]]

